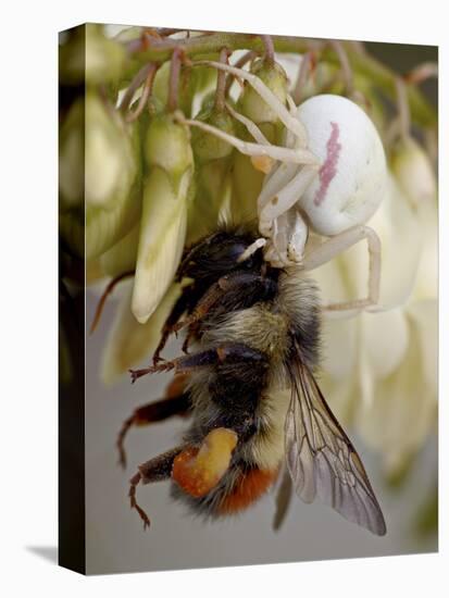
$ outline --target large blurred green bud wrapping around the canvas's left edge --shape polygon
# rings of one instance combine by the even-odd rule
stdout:
[[[117,242],[139,217],[138,126],[127,125],[91,91],[71,108],[60,148],[61,235],[80,257],[85,236],[86,258],[91,259]]]

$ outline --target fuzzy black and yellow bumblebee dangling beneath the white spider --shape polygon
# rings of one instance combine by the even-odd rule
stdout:
[[[255,239],[244,231],[219,231],[184,256],[177,278],[188,284],[163,327],[153,364],[132,371],[133,382],[157,372],[175,377],[164,399],[125,422],[117,441],[122,461],[130,427],[176,414],[189,416],[190,425],[179,446],[138,468],[130,506],[147,527],[137,486],[170,479],[172,496],[196,513],[237,513],[262,497],[286,464],[303,501],[317,498],[384,535],[363,464],[315,381],[317,288],[298,266],[271,266],[261,250],[251,249]],[[169,336],[182,329],[185,354],[162,360]]]

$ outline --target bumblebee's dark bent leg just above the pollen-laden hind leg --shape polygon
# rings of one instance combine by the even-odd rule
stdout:
[[[134,413],[123,423],[116,440],[119,463],[122,468],[126,468],[124,441],[132,427],[141,427],[155,422],[162,422],[173,415],[184,416],[188,413],[189,409],[190,396],[187,393],[166,397],[136,409]]]

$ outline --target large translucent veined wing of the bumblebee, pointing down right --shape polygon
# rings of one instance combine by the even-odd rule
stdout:
[[[383,536],[384,515],[362,461],[312,373],[298,360],[290,367],[290,377],[285,441],[297,495],[304,502],[317,497],[345,519]]]

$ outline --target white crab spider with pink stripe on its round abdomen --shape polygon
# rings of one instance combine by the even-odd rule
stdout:
[[[242,256],[264,247],[274,266],[299,264],[310,271],[328,262],[362,239],[370,256],[369,292],[364,299],[327,306],[327,310],[354,310],[378,302],[381,241],[364,224],[386,192],[387,171],[381,138],[361,108],[340,96],[315,96],[298,108],[287,96],[288,109],[252,73],[225,63],[201,61],[247,80],[286,127],[285,146],[271,145],[249,119],[227,107],[257,142],[248,142],[198,121],[183,121],[202,128],[250,157],[277,161],[265,177],[258,198],[262,235]],[[309,228],[327,240],[307,250]]]

